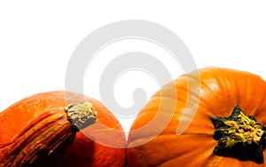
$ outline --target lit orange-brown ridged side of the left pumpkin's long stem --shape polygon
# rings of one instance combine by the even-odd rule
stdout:
[[[43,118],[43,115],[45,116],[44,118]],[[42,121],[35,122],[36,120],[39,120],[40,117],[43,118],[43,119],[41,119]],[[70,124],[66,120],[66,115],[64,113],[60,113],[60,112],[58,112],[57,114],[44,113],[44,114],[38,116],[33,121],[33,123],[29,123],[27,126],[27,131],[24,131],[24,133],[28,133],[28,134],[20,135],[19,138],[17,138],[16,140],[12,140],[12,144],[6,146],[7,148],[11,147],[12,149],[10,149],[8,153],[6,153],[7,156],[3,160],[5,166],[8,166],[8,164],[10,164],[10,163],[19,165],[22,162],[24,162],[24,163],[32,162],[33,161],[32,158],[35,155],[38,155],[38,153],[35,150],[36,147],[30,147],[31,145],[34,146],[35,144],[38,144],[38,142],[36,142],[36,141],[38,141],[38,139],[40,139],[41,141],[44,141],[45,139],[49,138],[51,135],[61,137],[62,136],[61,134],[64,134],[64,133],[53,132],[53,131],[55,131],[55,130],[53,130],[53,125],[58,124],[58,123],[60,125]],[[60,126],[60,127],[63,127],[63,126]],[[67,127],[66,127],[66,129],[67,129]],[[68,129],[70,129],[70,128],[68,128]],[[38,130],[40,130],[40,131],[38,131]],[[47,131],[47,130],[50,130],[50,131]],[[63,128],[60,131],[64,131],[64,130],[65,129]],[[20,134],[22,134],[22,133],[20,133]],[[37,137],[37,138],[35,138],[35,137]],[[43,137],[44,137],[44,139],[43,139]],[[74,135],[72,134],[71,136],[69,136],[68,139],[73,140]],[[59,140],[60,140],[60,138],[59,138]],[[43,145],[45,146],[45,149],[51,148],[51,146],[49,144],[43,143]],[[25,148],[27,148],[27,150],[25,150]],[[45,152],[45,149],[43,150],[44,152]],[[32,153],[32,154],[30,154],[30,153]],[[27,156],[25,156],[25,154]]]

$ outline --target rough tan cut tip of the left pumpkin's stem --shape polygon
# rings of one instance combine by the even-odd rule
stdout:
[[[96,122],[97,111],[94,111],[89,102],[70,104],[65,107],[65,111],[74,131],[80,131]]]

